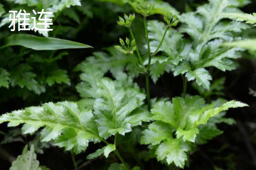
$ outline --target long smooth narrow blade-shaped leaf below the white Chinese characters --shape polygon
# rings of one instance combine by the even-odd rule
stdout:
[[[21,45],[33,50],[59,50],[68,48],[92,48],[79,42],[69,40],[61,40],[51,37],[37,37],[29,34],[12,34],[7,37],[6,45],[0,47],[5,48],[13,45]]]

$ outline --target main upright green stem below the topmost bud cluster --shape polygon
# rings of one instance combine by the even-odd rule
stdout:
[[[146,91],[147,91],[147,100],[148,100],[148,110],[150,111],[151,104],[150,104],[150,89],[149,89],[149,71],[150,71],[150,64],[151,64],[151,51],[150,51],[150,44],[149,44],[149,38],[148,38],[148,27],[147,27],[146,17],[143,18],[143,21],[144,21],[145,34],[146,34],[147,45],[148,45],[148,67],[147,67],[147,72],[146,72],[145,76],[146,76]]]

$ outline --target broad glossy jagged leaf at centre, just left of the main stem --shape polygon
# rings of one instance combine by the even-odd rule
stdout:
[[[131,127],[150,119],[147,112],[133,113],[143,105],[145,99],[145,95],[137,89],[131,88],[125,91],[116,87],[115,83],[109,79],[102,79],[97,85],[99,89],[96,93],[101,98],[96,99],[94,114],[99,124],[99,134],[103,138],[116,133],[124,135],[131,131]]]

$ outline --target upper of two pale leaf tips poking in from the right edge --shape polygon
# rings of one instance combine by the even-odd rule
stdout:
[[[256,13],[244,14],[244,13],[223,13],[222,17],[236,19],[237,21],[245,21],[247,24],[255,24],[256,26]]]

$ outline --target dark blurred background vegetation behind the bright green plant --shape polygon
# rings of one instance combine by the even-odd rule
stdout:
[[[40,0],[39,0],[40,1]],[[33,4],[33,0],[1,0],[0,8],[9,11],[12,8],[41,8],[39,3]],[[23,3],[22,3],[23,2]],[[37,2],[37,1],[36,1]],[[43,8],[51,8],[56,1],[42,1]],[[93,46],[93,48],[67,49],[54,51],[34,51],[22,46],[12,46],[0,49],[0,69],[4,69],[10,74],[7,84],[0,84],[0,113],[7,113],[29,106],[42,105],[46,102],[78,101],[81,96],[77,92],[76,85],[81,80],[79,77],[79,63],[96,56],[96,51],[103,51],[112,55],[113,45],[119,44],[119,37],[129,37],[129,30],[119,26],[116,21],[124,13],[134,13],[134,9],[128,3],[118,0],[81,0],[81,6],[67,3],[58,6],[55,11],[53,31],[49,31],[49,37],[72,40]],[[73,0],[76,4],[79,0]],[[240,0],[247,4],[247,1]],[[29,4],[32,3],[32,4]],[[178,12],[195,11],[198,6],[208,3],[206,0],[179,0],[167,1],[170,6]],[[60,3],[59,3],[60,5]],[[241,6],[245,13],[253,13],[256,0],[251,0],[247,5]],[[166,6],[167,8],[169,6]],[[169,9],[169,8],[168,8]],[[170,9],[172,9],[170,7]],[[1,10],[0,10],[1,11]],[[172,13],[176,11],[171,11]],[[0,12],[0,16],[1,16]],[[4,13],[2,19],[4,19]],[[164,21],[162,14],[150,16],[149,20]],[[3,22],[3,20],[2,20]],[[145,32],[143,28],[143,17],[136,14],[136,19],[132,25],[138,47],[143,54],[146,54]],[[178,31],[180,28],[177,28]],[[18,32],[15,32],[16,34]],[[32,31],[26,34],[46,36],[46,33],[39,34]],[[10,37],[13,32],[9,31],[7,25],[0,27],[0,45],[5,45],[6,37]],[[19,33],[20,34],[20,33]],[[256,27],[248,26],[239,33],[234,33],[237,37],[255,38]],[[185,34],[185,38],[189,38]],[[112,54],[111,54],[112,52]],[[256,169],[256,53],[253,50],[243,51],[242,57],[235,60],[236,69],[222,72],[217,68],[210,67],[208,70],[212,75],[210,90],[205,90],[197,83],[190,81],[187,86],[187,94],[200,95],[207,102],[214,101],[219,97],[230,100],[238,100],[247,103],[250,107],[231,109],[227,112],[227,117],[236,121],[234,125],[224,123],[218,124],[218,128],[224,133],[213,138],[207,144],[198,145],[196,151],[189,156],[189,167],[185,169],[205,170],[252,170]],[[120,54],[121,55],[121,54]],[[130,56],[126,56],[131,58]],[[119,65],[120,63],[114,63]],[[76,68],[76,69],[75,69]],[[114,66],[113,66],[114,68]],[[81,69],[80,69],[81,71]],[[129,70],[127,71],[129,72]],[[0,82],[3,80],[0,72]],[[111,71],[106,74],[113,78]],[[173,76],[172,71],[161,73],[162,77],[158,81],[150,80],[151,98],[172,98],[181,96],[183,93],[183,79],[181,76]],[[140,88],[145,88],[145,78],[143,76],[134,79]],[[7,128],[6,124],[0,125],[1,145],[0,145],[0,169],[9,169],[12,161],[22,153],[26,144],[29,147],[33,144],[37,159],[41,165],[45,165],[52,170],[72,170],[73,153],[64,151],[53,146],[52,143],[40,142],[39,133],[34,135],[23,135],[20,128]],[[131,135],[131,134],[130,134]],[[137,135],[137,136],[136,136]],[[129,146],[123,147],[121,152],[123,157],[131,164],[143,164],[145,170],[149,169],[172,169],[157,163],[156,159],[149,159],[145,150],[146,145],[137,144],[140,134],[120,139],[120,144],[125,146],[128,141]],[[130,141],[131,140],[131,141]],[[134,142],[134,143],[133,143]],[[102,144],[89,144],[86,152],[75,156],[78,169],[98,170],[108,169],[113,162],[118,162],[118,158],[110,155],[108,159],[103,156],[92,160],[86,160],[88,154],[93,153]],[[132,148],[128,149],[127,148]],[[134,150],[133,150],[134,149]],[[137,162],[133,157],[137,157]],[[146,163],[145,163],[146,162]]]

